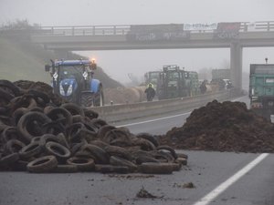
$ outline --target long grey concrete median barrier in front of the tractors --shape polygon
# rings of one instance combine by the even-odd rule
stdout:
[[[100,118],[111,123],[133,118],[144,118],[164,113],[190,110],[191,108],[205,106],[206,103],[214,99],[218,101],[226,101],[233,97],[243,95],[244,94],[241,90],[235,88],[195,97],[180,97],[152,102],[104,106],[92,108],[92,110],[98,112]]]

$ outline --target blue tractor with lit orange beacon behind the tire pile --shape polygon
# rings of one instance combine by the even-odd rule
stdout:
[[[54,93],[89,108],[104,105],[102,84],[93,78],[96,68],[95,60],[51,60],[45,71],[52,77]]]

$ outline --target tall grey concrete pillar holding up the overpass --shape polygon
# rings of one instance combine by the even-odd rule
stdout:
[[[239,43],[230,45],[231,82],[234,87],[242,88],[243,48]]]

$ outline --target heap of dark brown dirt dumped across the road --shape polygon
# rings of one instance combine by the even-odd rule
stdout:
[[[274,126],[245,103],[216,100],[195,109],[181,128],[160,137],[175,149],[274,152]]]

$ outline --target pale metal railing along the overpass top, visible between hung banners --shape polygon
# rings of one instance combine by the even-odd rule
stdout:
[[[233,24],[233,22],[231,24]],[[17,29],[17,31],[19,30],[20,29]],[[0,28],[1,33],[4,33],[5,31],[16,32],[16,30],[13,29],[8,30]],[[30,31],[33,36],[125,36],[131,31],[131,26],[37,26],[35,28],[30,28]],[[189,30],[191,34],[214,33],[215,31],[215,29]],[[270,31],[274,31],[274,21],[241,22],[239,27],[240,33]]]

